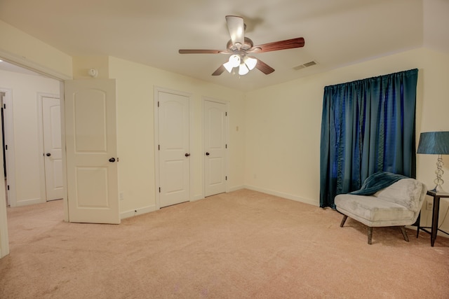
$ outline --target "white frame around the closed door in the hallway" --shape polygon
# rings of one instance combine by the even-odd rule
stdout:
[[[39,156],[41,153],[44,153],[43,148],[43,116],[42,116],[42,106],[43,106],[43,97],[51,97],[53,99],[59,99],[59,103],[61,105],[61,97],[58,95],[54,95],[51,93],[45,93],[45,92],[38,92],[37,93],[37,132],[39,134]],[[62,116],[62,115],[61,115]],[[62,132],[61,132],[62,135]],[[62,137],[62,136],[61,136]],[[62,141],[61,141],[62,146]],[[43,156],[42,156],[43,157]],[[63,163],[64,164],[64,163]],[[40,179],[41,179],[41,202],[47,202],[47,191],[46,191],[46,172],[45,172],[45,159],[41,158],[39,160],[39,173],[40,173]]]

